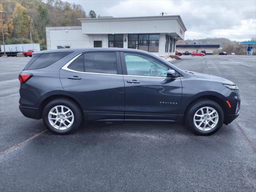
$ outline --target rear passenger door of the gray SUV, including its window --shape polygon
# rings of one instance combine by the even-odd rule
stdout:
[[[124,119],[119,52],[79,54],[60,70],[64,90],[82,102],[88,120]]]

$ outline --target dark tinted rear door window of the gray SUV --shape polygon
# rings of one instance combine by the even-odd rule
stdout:
[[[81,72],[117,74],[116,52],[84,53],[68,68]]]

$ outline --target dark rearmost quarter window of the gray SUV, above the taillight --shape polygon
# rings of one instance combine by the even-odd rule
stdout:
[[[64,58],[65,56],[69,55],[72,52],[57,52],[57,53],[44,53],[44,54],[35,54],[40,55],[34,61],[26,65],[24,70],[32,70],[32,69],[41,69],[50,66],[51,64],[55,63],[56,61]],[[33,55],[32,55],[33,59]],[[32,60],[31,59],[31,60]],[[30,63],[30,65],[29,65]]]

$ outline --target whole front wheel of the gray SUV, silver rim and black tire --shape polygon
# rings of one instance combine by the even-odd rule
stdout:
[[[224,122],[222,107],[208,99],[198,100],[186,113],[186,124],[197,135],[211,135],[217,132]]]

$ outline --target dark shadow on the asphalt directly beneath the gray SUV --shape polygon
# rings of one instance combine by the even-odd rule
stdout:
[[[226,125],[216,134],[228,134]],[[46,134],[52,134],[47,132]],[[196,136],[186,124],[177,122],[155,122],[155,121],[115,121],[115,122],[83,122],[75,132],[68,134],[70,136],[78,135],[94,135],[94,134],[143,134],[144,136],[152,136],[159,134]],[[214,134],[214,135],[216,135]],[[66,136],[68,136],[66,135]]]

